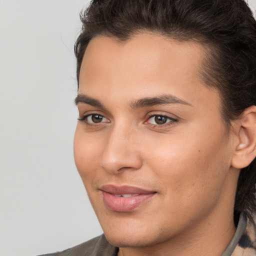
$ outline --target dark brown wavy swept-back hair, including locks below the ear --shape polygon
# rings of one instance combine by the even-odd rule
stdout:
[[[142,31],[196,40],[207,56],[201,76],[221,95],[227,128],[245,108],[256,105],[256,21],[244,0],[92,0],[81,11],[74,51],[77,82],[85,49],[99,35],[124,41]],[[241,169],[234,212],[256,211],[256,160]]]

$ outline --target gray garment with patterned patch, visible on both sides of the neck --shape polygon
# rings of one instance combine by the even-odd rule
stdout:
[[[41,256],[117,256],[118,248],[104,234],[62,252]],[[256,230],[244,213],[240,214],[235,234],[221,256],[256,256]]]

